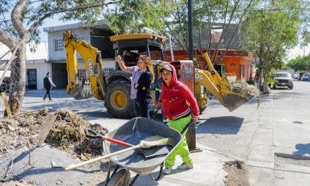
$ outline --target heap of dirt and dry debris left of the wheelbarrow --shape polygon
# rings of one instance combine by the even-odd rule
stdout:
[[[44,125],[48,113],[49,109],[45,108],[1,119],[0,154],[6,154],[21,147],[30,149],[35,147],[39,130]],[[106,135],[108,130],[101,125],[91,125],[82,116],[67,109],[58,110],[54,114],[56,121],[46,137],[47,144],[83,160],[102,154],[102,140],[87,138],[84,130],[90,128],[101,135]]]

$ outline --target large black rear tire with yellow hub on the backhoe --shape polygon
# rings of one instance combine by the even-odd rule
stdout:
[[[133,118],[133,104],[130,99],[130,82],[116,80],[109,84],[106,91],[105,106],[114,118]]]

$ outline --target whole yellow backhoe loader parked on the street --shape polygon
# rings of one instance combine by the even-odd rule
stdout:
[[[104,77],[104,66],[101,62],[101,51],[87,44],[82,39],[74,37],[70,31],[66,31],[63,35],[66,54],[67,54],[67,70],[69,75],[69,84],[67,86],[68,94],[72,94],[75,99],[87,99],[91,93],[96,99],[104,100],[104,104],[109,113],[115,118],[132,118],[134,116],[132,108],[132,100],[130,100],[130,80],[131,74],[125,73],[118,67],[111,77]],[[163,42],[165,39],[151,34],[128,34],[115,35],[110,37],[113,42],[115,54],[122,56],[126,49],[137,51],[139,54],[147,54],[151,56],[152,52],[161,54],[161,61],[152,61],[154,65],[154,73],[156,77],[159,75],[159,69],[164,64]],[[77,75],[77,56],[76,51],[82,56],[85,62],[88,78],[80,82]],[[182,68],[188,68],[184,73],[184,77],[192,74],[192,81],[185,81],[185,84],[194,90],[194,96],[197,99],[201,113],[206,109],[209,99],[204,91],[207,89],[213,94],[218,101],[223,104],[229,111],[237,109],[239,106],[249,101],[252,96],[244,96],[233,91],[232,85],[228,81],[228,77],[221,77],[214,70],[208,54],[204,54],[204,58],[208,62],[211,72],[194,68],[192,61],[174,61],[171,64],[179,66],[178,72],[182,73]],[[182,80],[182,78],[180,78]],[[194,83],[193,83],[194,80]],[[190,84],[190,85],[189,85]],[[154,94],[152,94],[154,95]]]

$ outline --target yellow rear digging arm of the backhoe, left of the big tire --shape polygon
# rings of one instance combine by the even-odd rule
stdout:
[[[79,85],[77,75],[77,54],[82,56],[87,70],[92,94],[97,99],[103,100],[106,92],[106,79],[104,77],[104,66],[101,62],[101,51],[87,44],[84,40],[73,37],[70,31],[66,31],[63,35],[66,54],[67,54],[67,71],[69,75],[69,84],[67,85],[68,94],[72,94],[75,99],[85,99],[89,96],[82,94],[85,92],[88,80]]]

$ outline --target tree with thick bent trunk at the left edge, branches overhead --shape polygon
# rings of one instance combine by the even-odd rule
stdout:
[[[116,4],[117,1],[108,4]],[[13,114],[20,111],[25,94],[25,61],[26,44],[30,41],[38,42],[37,29],[46,18],[62,13],[62,20],[94,21],[101,15],[106,5],[99,0],[1,0],[1,15],[11,14],[11,20],[0,22],[0,42],[8,46],[13,54],[11,63],[11,85],[9,88],[9,104]],[[7,64],[9,65],[9,64]]]

